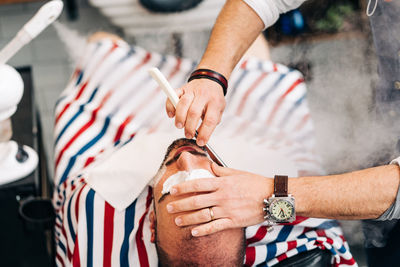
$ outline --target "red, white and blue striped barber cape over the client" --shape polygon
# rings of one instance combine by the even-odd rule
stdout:
[[[55,184],[57,266],[157,266],[150,242],[152,188],[126,209],[110,205],[83,170],[135,138],[171,126],[165,95],[147,73],[158,67],[173,87],[196,66],[124,42],[89,43],[56,104]],[[251,137],[259,147],[280,149],[299,174],[321,174],[314,153],[306,86],[295,70],[269,61],[243,61],[230,78],[218,134]],[[168,126],[168,127],[167,127]],[[132,168],[140,168],[132,163]],[[115,178],[114,178],[115,179]],[[134,179],[134,177],[132,178]],[[110,177],[113,183],[113,177]],[[312,249],[334,255],[334,266],[357,266],[335,220],[297,217],[291,224],[246,229],[246,266],[274,264]]]

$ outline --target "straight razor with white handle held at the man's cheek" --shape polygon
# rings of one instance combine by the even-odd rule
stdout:
[[[176,94],[175,90],[172,88],[172,86],[169,84],[165,76],[157,68],[151,68],[148,70],[148,72],[150,73],[151,77],[153,77],[154,80],[157,81],[158,85],[161,87],[164,93],[168,96],[169,100],[172,102],[172,105],[174,105],[174,107],[176,108],[176,105],[179,102],[179,97]],[[195,137],[197,137],[197,131]],[[215,153],[215,151],[211,148],[209,144],[206,144],[205,148],[214,162],[216,162],[219,166],[226,167],[226,164],[217,155],[217,153]]]

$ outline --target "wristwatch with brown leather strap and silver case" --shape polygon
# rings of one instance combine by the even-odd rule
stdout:
[[[288,177],[275,175],[274,194],[264,199],[264,219],[270,225],[293,222],[296,219],[294,197],[288,194]]]

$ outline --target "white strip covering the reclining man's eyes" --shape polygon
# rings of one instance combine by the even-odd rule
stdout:
[[[171,175],[170,177],[168,177],[167,180],[165,180],[161,194],[165,195],[165,194],[169,193],[169,191],[171,190],[171,187],[176,184],[180,184],[180,183],[190,181],[190,180],[195,180],[195,179],[212,178],[212,177],[215,177],[215,175],[205,169],[195,169],[195,170],[191,170],[190,172],[179,171],[179,172]]]

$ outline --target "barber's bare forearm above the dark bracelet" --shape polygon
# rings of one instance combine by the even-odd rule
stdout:
[[[242,0],[228,0],[219,14],[199,68],[227,78],[264,27],[259,16]]]

